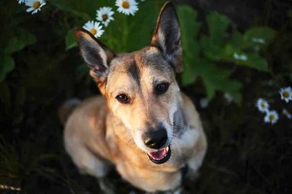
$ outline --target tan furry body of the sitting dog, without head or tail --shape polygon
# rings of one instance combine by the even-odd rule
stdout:
[[[193,173],[197,172],[207,148],[199,114],[188,97],[180,93],[180,98],[189,130],[174,140],[171,160],[165,164],[153,164],[130,141],[130,131],[109,112],[102,96],[87,99],[74,110],[65,127],[66,150],[81,171],[92,176],[104,176],[111,162],[123,178],[147,192],[175,189],[181,184],[180,168],[188,162]],[[85,145],[109,162],[96,158]]]

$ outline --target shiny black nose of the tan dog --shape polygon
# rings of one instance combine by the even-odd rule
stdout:
[[[166,129],[160,128],[157,130],[150,130],[143,135],[144,144],[153,149],[159,149],[167,141]]]

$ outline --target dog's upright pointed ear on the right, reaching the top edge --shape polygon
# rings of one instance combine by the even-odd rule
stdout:
[[[171,1],[167,1],[160,11],[151,46],[157,47],[163,52],[164,57],[175,67],[177,73],[183,71],[181,27]]]

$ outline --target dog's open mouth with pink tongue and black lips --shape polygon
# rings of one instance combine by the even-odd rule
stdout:
[[[171,156],[170,145],[156,152],[147,152],[147,155],[151,162],[155,164],[163,164],[167,162]]]

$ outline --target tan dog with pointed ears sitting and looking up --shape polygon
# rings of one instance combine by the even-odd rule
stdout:
[[[183,71],[179,19],[168,1],[150,45],[115,53],[90,32],[75,37],[102,95],[59,110],[64,145],[80,172],[96,178],[114,165],[146,192],[174,191],[198,173],[207,149],[199,113],[175,79]]]

